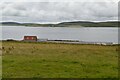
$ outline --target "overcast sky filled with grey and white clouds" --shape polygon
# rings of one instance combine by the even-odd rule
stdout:
[[[58,23],[118,20],[118,0],[1,0],[0,21]]]

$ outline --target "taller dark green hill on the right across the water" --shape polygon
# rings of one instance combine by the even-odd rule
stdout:
[[[77,21],[77,22],[62,22],[57,24],[59,27],[69,27],[69,26],[83,26],[83,27],[118,27],[117,21],[111,22],[85,22],[85,21]]]

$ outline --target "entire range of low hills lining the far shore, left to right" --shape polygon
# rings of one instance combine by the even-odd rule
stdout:
[[[89,22],[74,21],[61,22],[58,24],[36,24],[36,23],[18,23],[18,22],[1,22],[3,26],[33,26],[33,27],[118,27],[118,21],[108,22]]]

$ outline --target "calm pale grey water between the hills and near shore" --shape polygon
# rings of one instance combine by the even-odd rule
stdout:
[[[1,29],[1,28],[0,28]],[[3,26],[0,39],[22,40],[24,36],[37,36],[40,39],[65,39],[89,42],[118,43],[118,28],[113,27],[24,27]]]

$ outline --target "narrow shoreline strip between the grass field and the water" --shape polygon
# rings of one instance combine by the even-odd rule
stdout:
[[[46,40],[46,41],[0,40],[0,42],[58,43],[58,44],[104,45],[104,46],[119,45],[113,42],[87,42],[77,40]]]

